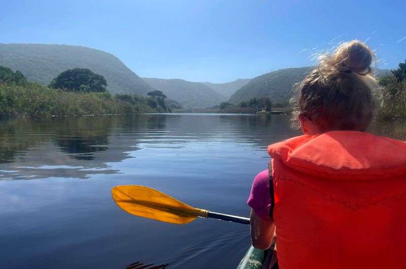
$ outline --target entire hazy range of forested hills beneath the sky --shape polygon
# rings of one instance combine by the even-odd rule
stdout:
[[[113,94],[146,95],[158,89],[186,109],[204,109],[226,101],[238,104],[254,97],[269,97],[274,104],[286,104],[293,94],[293,85],[314,69],[314,66],[288,68],[228,83],[140,78],[110,53],[81,46],[44,44],[0,44],[0,65],[20,70],[28,80],[45,85],[67,69],[88,68],[106,78],[107,89]],[[374,72],[377,76],[390,73],[380,69]]]

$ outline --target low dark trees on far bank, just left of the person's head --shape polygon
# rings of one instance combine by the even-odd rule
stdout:
[[[258,111],[272,111],[272,102],[268,97],[251,98],[249,101],[240,102],[238,105],[223,102],[218,106],[220,113],[245,113],[253,114]]]

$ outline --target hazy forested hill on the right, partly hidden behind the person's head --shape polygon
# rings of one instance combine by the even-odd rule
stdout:
[[[232,94],[229,102],[238,104],[254,97],[269,97],[274,104],[286,104],[294,94],[293,85],[300,82],[314,68],[315,66],[306,66],[281,69],[253,78]],[[389,70],[373,69],[373,71],[378,77],[390,74]]]

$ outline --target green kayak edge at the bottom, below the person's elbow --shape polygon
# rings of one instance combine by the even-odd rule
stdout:
[[[251,246],[237,266],[237,269],[268,269],[274,248],[275,244],[272,244],[270,249],[265,251]],[[275,264],[272,268],[277,269],[278,264]]]

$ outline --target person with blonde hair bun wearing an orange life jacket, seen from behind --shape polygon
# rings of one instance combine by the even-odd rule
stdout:
[[[351,41],[320,60],[298,88],[304,135],[270,145],[254,179],[252,244],[276,232],[281,269],[406,268],[406,142],[365,132],[373,58]]]

